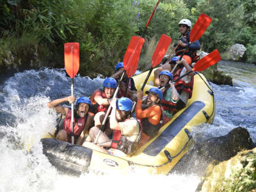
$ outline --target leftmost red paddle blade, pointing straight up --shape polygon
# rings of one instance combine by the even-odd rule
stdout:
[[[64,44],[65,69],[74,78],[79,70],[79,43]]]

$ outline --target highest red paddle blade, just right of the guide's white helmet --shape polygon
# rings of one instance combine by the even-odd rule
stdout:
[[[204,13],[201,13],[201,15],[196,20],[193,29],[191,29],[189,41],[192,43],[198,40],[204,34],[204,31],[207,29],[211,21],[211,17],[205,15]]]

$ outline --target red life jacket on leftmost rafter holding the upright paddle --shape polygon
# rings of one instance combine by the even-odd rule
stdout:
[[[71,138],[72,131],[72,122],[71,122],[72,111],[68,109],[68,113],[65,116],[63,129],[67,132],[68,140]],[[83,118],[75,118],[74,117],[74,137],[78,138],[81,132],[84,129],[84,124],[86,122],[88,114],[86,114]]]

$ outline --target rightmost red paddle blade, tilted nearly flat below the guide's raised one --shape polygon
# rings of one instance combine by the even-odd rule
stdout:
[[[211,67],[212,65],[214,65],[220,60],[221,60],[220,53],[217,49],[215,49],[210,54],[207,54],[207,56],[197,61],[192,70],[200,72],[202,70],[205,70],[208,67]]]

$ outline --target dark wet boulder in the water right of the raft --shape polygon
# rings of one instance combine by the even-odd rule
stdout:
[[[253,147],[256,146],[250,138],[250,133],[243,127],[237,127],[225,136],[211,138],[195,145],[201,157],[216,161],[226,161],[238,152]]]

